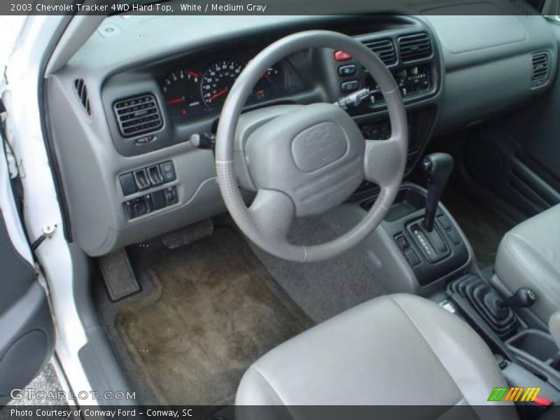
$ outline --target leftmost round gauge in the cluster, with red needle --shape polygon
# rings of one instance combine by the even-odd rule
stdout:
[[[200,97],[200,77],[197,71],[179,70],[165,78],[162,91],[172,118],[188,118],[206,110]]]

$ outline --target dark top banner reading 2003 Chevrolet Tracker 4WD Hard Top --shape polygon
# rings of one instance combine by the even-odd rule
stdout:
[[[3,0],[0,15],[535,15],[540,0]]]

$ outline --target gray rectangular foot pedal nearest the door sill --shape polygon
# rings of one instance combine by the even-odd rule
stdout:
[[[116,302],[140,291],[125,248],[99,258],[99,268],[111,301]]]

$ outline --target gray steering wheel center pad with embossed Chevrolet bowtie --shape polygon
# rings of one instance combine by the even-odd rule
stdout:
[[[295,216],[342,203],[363,180],[365,141],[352,118],[331,104],[302,106],[248,138],[248,169],[258,189],[290,197]]]

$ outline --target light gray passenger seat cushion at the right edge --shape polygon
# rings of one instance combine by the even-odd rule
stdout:
[[[505,234],[496,257],[496,278],[510,293],[537,293],[531,311],[547,325],[560,309],[560,205],[533,216]]]

